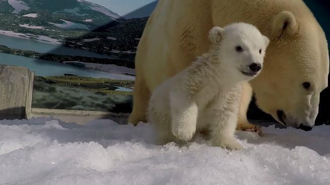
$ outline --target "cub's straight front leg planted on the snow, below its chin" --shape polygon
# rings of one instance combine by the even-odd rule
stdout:
[[[239,93],[234,89],[227,94],[219,94],[208,108],[209,123],[212,130],[212,144],[223,149],[239,150],[243,146],[237,142],[234,132],[237,123]]]

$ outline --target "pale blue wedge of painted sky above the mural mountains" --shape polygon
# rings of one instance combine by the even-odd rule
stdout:
[[[127,15],[156,0],[85,0],[101,5],[120,16]]]

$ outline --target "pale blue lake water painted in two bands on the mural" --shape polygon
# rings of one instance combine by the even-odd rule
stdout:
[[[3,34],[0,34],[0,45],[4,45],[14,49],[35,51],[39,53],[52,53],[59,55],[85,56],[97,58],[113,58],[112,56],[105,54],[98,54],[91,51],[74,49],[64,47],[58,44],[51,44],[36,40],[21,39]],[[0,53],[0,64],[24,66],[27,67],[29,70],[35,72],[37,76],[64,76],[65,73],[68,73],[82,77],[108,78],[114,80],[132,80],[131,77],[128,77],[126,75],[112,74],[100,70],[93,70],[70,64],[6,53]]]

